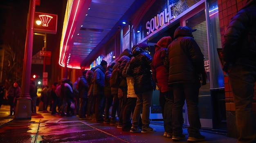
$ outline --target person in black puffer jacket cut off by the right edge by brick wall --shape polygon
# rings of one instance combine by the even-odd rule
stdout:
[[[252,101],[256,81],[256,0],[231,19],[224,34],[222,57],[236,106],[238,143],[256,143],[256,122]]]

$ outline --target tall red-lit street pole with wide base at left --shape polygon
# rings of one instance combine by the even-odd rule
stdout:
[[[20,98],[17,99],[14,119],[31,119],[31,97],[29,95],[29,86],[32,63],[35,8],[36,0],[31,0],[29,2],[29,14],[27,17],[27,35],[22,71],[21,95]]]

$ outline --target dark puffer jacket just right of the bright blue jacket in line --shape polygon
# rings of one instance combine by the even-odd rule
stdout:
[[[111,74],[112,74],[112,68],[110,68],[108,66],[107,69],[106,69],[106,72],[105,72],[105,85],[104,85],[104,95],[106,97],[111,97],[112,96],[110,82],[109,82]]]

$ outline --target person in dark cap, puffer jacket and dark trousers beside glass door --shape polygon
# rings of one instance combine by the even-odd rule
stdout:
[[[204,141],[199,132],[201,123],[198,111],[198,94],[201,86],[199,75],[204,72],[204,55],[193,39],[188,26],[179,26],[174,32],[174,40],[168,46],[169,78],[173,87],[173,137],[175,141],[185,139],[182,134],[182,107],[186,99],[189,119],[189,139],[187,141]]]

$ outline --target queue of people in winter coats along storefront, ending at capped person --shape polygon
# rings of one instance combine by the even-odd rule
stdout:
[[[190,124],[187,141],[204,141],[205,137],[199,132],[198,111],[204,55],[193,39],[194,31],[196,29],[179,26],[174,40],[170,36],[162,37],[155,44],[153,58],[149,54],[150,46],[139,43],[132,50],[124,50],[117,63],[107,66],[102,60],[99,66],[84,71],[76,81],[80,119],[92,119],[95,115],[97,123],[117,125],[123,131],[155,132],[150,127],[149,114],[153,90],[158,87],[163,136],[174,141],[185,139],[182,107],[186,99]]]

